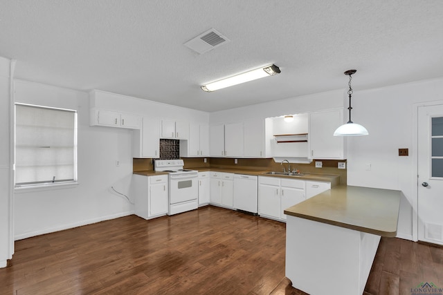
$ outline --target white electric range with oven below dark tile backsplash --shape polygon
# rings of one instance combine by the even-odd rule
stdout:
[[[198,171],[183,169],[183,160],[155,160],[154,170],[169,173],[168,215],[199,207]]]

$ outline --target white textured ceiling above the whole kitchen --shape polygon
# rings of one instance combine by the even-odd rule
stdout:
[[[15,77],[219,111],[346,88],[443,77],[442,0],[0,0],[0,56]],[[199,55],[215,28],[230,42]],[[275,64],[213,93],[199,86]]]

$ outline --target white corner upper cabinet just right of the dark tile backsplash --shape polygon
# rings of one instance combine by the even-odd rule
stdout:
[[[209,126],[208,124],[189,124],[189,140],[181,140],[181,157],[209,156]]]

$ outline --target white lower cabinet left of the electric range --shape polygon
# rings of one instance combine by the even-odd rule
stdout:
[[[168,175],[133,175],[134,211],[150,219],[168,213]]]

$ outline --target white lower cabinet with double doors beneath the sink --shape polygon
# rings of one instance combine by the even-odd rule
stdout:
[[[286,220],[283,213],[305,200],[305,180],[259,177],[258,214],[262,217]]]

